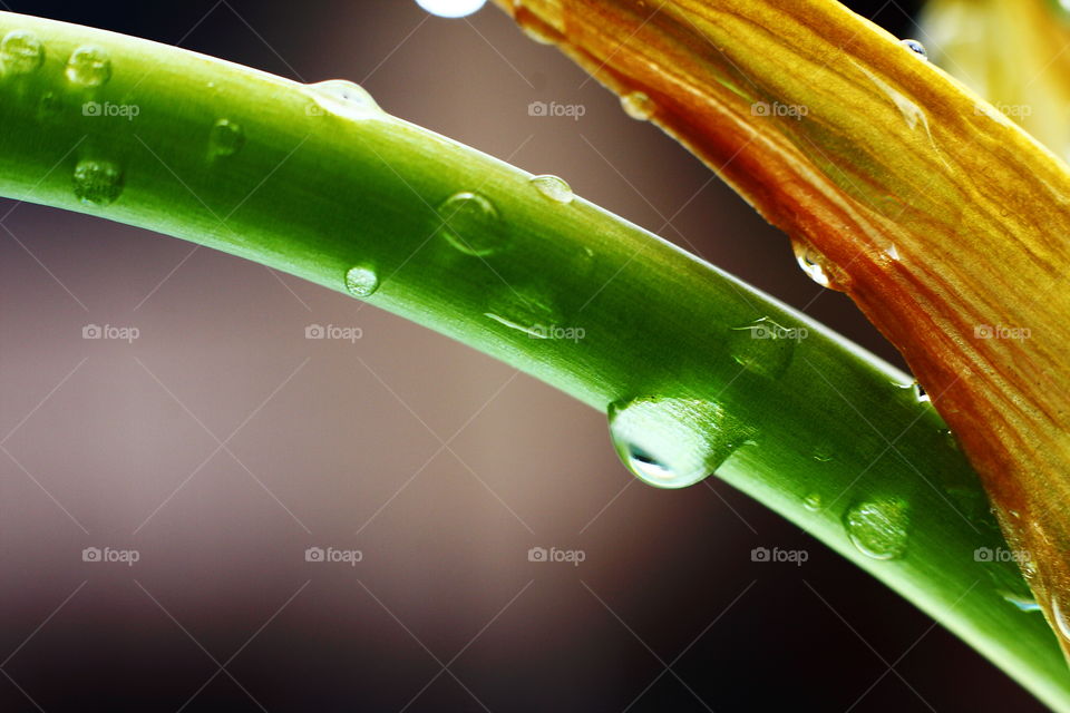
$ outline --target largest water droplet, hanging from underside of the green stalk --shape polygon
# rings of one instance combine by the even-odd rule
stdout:
[[[641,398],[610,406],[610,436],[641,480],[683,488],[713,473],[748,432],[712,401]]]

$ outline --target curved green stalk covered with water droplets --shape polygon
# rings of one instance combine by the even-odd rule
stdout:
[[[1070,711],[983,491],[902,373],[353,85],[9,13],[0,35],[3,195],[364,296],[612,411],[633,470],[716,469]]]

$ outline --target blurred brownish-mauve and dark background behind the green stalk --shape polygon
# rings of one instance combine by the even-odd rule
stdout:
[[[899,363],[784,235],[492,7],[0,4],[359,81]],[[847,4],[925,39],[915,3]],[[532,117],[535,100],[585,114]],[[603,414],[510,368],[207,248],[6,214],[0,710],[1041,710],[726,485],[633,484]],[[86,340],[87,324],[137,339]],[[307,340],[309,324],[361,339]],[[809,559],[751,561],[761,546]]]

